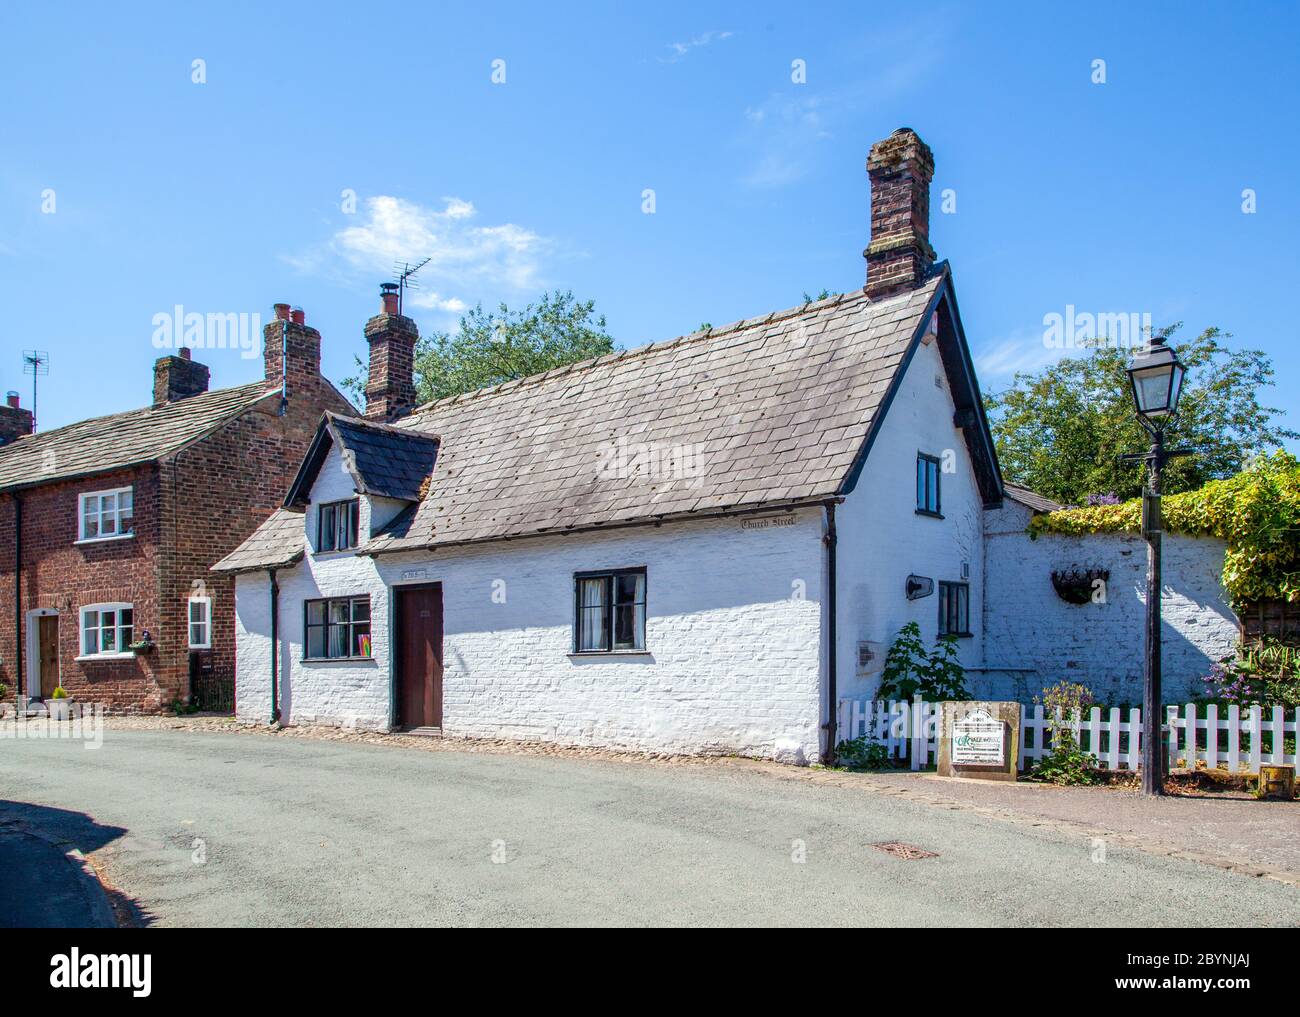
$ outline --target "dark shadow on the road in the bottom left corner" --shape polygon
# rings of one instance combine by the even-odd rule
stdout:
[[[56,848],[57,853],[77,848],[88,860],[92,852],[125,836],[127,830],[121,826],[104,826],[86,813],[70,809],[0,800],[0,834],[5,832],[39,839],[49,847],[51,852]],[[6,880],[12,886],[9,887],[10,892],[5,896],[9,896],[10,900],[17,900],[21,896],[29,905],[32,903],[35,905],[23,910],[21,925],[29,927],[34,923],[44,925],[46,919],[51,919],[53,925],[62,925],[58,921],[61,912],[58,912],[56,901],[65,897],[53,892],[56,891],[55,882],[58,879],[58,870],[49,861],[53,856],[27,851],[16,857],[30,858],[31,866],[25,871],[10,870],[6,874]],[[94,867],[98,873],[99,866]],[[68,867],[68,878],[72,879],[72,866]],[[100,883],[118,926],[143,927],[153,922],[153,916],[138,900],[104,883],[103,879]],[[31,919],[32,914],[35,921]],[[70,912],[69,918],[73,917],[74,914]],[[3,914],[0,914],[0,925],[5,925]]]

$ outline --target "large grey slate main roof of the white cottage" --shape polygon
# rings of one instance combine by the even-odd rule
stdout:
[[[441,440],[428,497],[361,550],[775,508],[852,489],[946,278],[939,265],[884,300],[844,294],[422,406],[399,427]]]

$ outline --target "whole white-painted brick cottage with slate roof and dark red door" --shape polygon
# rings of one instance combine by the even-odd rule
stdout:
[[[326,415],[217,564],[239,715],[811,761],[906,622],[1014,680],[1035,649],[987,603],[1004,484],[932,157],[904,129],[868,172],[862,291],[413,410],[386,290],[367,419]]]

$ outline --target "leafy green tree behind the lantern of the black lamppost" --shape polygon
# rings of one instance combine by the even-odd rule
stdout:
[[[1231,333],[1209,328],[1188,342],[1170,341],[1187,365],[1187,378],[1166,443],[1197,451],[1165,467],[1169,494],[1231,476],[1256,454],[1300,437],[1274,423],[1279,410],[1260,403],[1260,390],[1274,384],[1273,362],[1261,350],[1228,349],[1223,341],[1230,338]],[[1037,375],[1018,373],[1009,389],[985,397],[1008,480],[1065,505],[1141,493],[1144,467],[1119,462],[1122,454],[1150,445],[1134,415],[1124,373],[1130,351],[1104,342]]]

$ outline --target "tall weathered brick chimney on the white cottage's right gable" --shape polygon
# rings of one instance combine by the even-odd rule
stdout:
[[[919,286],[935,261],[930,246],[930,181],[935,156],[911,127],[871,146],[871,244],[867,297],[880,299]]]

